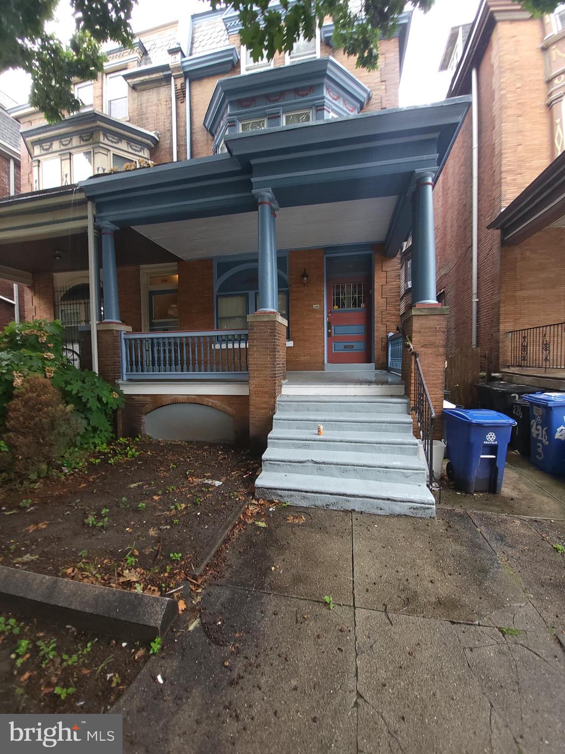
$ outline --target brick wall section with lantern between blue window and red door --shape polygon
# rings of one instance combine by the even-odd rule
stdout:
[[[301,275],[308,273],[306,285]],[[317,306],[318,308],[313,308]],[[294,343],[286,351],[289,371],[324,368],[324,251],[289,253],[289,322]]]

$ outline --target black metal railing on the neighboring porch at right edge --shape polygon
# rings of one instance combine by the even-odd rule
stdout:
[[[565,369],[565,322],[511,330],[506,335],[510,338],[509,366]]]

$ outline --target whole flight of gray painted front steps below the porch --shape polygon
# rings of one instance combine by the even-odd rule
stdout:
[[[435,515],[405,397],[280,396],[255,489],[295,505]]]

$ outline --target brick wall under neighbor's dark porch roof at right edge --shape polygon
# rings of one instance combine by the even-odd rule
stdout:
[[[500,366],[509,363],[505,333],[565,322],[565,228],[545,228],[500,259]]]

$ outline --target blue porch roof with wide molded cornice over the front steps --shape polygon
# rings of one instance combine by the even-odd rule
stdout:
[[[93,176],[80,185],[96,202],[97,222],[133,226],[182,258],[214,256],[218,246],[231,248],[230,228],[240,232],[247,228],[252,234],[254,189],[274,193],[289,231],[297,222],[304,226],[316,221],[315,214],[322,209],[315,210],[314,205],[348,202],[362,207],[365,203],[366,221],[372,225],[362,228],[363,238],[348,237],[350,243],[386,242],[394,255],[410,231],[414,181],[423,172],[437,178],[469,103],[469,97],[457,97],[427,106],[240,133],[228,136],[225,155]],[[310,215],[307,207],[312,209]],[[326,214],[328,210],[330,226],[324,227],[334,238],[344,213],[339,207],[328,207]],[[209,217],[224,217],[218,222],[221,234],[199,245],[204,225],[209,226],[202,221]],[[284,236],[285,228],[280,229]],[[279,248],[286,247],[278,227],[277,237]],[[307,245],[295,241],[295,247]]]

